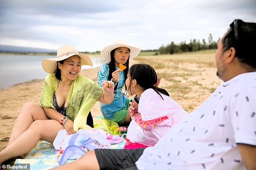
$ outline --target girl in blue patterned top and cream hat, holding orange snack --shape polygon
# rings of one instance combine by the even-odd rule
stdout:
[[[110,119],[117,122],[119,125],[130,123],[129,101],[122,93],[122,88],[125,86],[125,80],[129,69],[129,59],[136,57],[141,49],[129,45],[124,40],[115,41],[111,45],[107,45],[101,50],[102,57],[106,63],[101,66],[98,72],[98,84],[106,80],[114,83],[114,100],[111,104],[101,104],[101,112],[105,119]],[[121,71],[120,64],[126,66],[124,71]],[[125,86],[126,88],[126,86]],[[127,90],[126,90],[127,91]]]

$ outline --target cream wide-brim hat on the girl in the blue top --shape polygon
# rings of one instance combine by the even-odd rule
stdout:
[[[139,49],[137,47],[130,46],[127,41],[118,40],[118,41],[115,41],[113,44],[107,45],[106,47],[104,47],[101,50],[101,56],[106,59],[106,62],[110,62],[111,61],[110,52],[113,49],[116,49],[118,47],[127,47],[128,49],[130,49],[130,53],[129,53],[130,59],[136,57],[141,52],[141,49]]]

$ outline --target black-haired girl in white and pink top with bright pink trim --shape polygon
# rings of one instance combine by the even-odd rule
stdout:
[[[157,74],[147,64],[134,64],[128,72],[126,86],[130,95],[140,100],[130,102],[132,121],[126,135],[125,149],[149,147],[182,119],[187,112],[170,98],[168,92],[155,87]]]

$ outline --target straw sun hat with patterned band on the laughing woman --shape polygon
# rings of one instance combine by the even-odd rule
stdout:
[[[83,65],[92,66],[92,60],[88,55],[83,53],[78,53],[74,45],[63,45],[59,47],[57,51],[57,57],[43,59],[42,67],[44,71],[46,71],[47,73],[50,73],[50,74],[54,73],[58,65],[57,61],[67,59],[68,57],[71,57],[73,55],[78,55],[80,57],[81,66]]]

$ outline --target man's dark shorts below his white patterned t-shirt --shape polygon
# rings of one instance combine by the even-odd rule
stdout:
[[[141,157],[145,148],[135,150],[94,150],[101,170],[138,170],[135,162]]]

